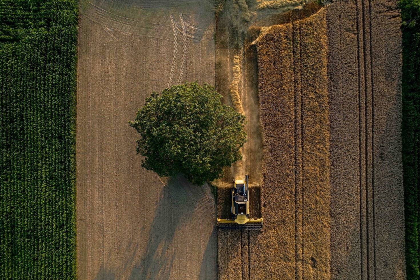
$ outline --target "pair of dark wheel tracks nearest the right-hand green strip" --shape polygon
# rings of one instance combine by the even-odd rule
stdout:
[[[366,5],[368,3],[368,5]],[[366,7],[367,6],[367,7]],[[359,80],[359,157],[360,157],[360,261],[361,278],[376,280],[375,208],[373,203],[373,69],[370,32],[370,1],[356,2],[358,80]],[[369,14],[367,17],[366,14]],[[368,22],[366,22],[368,21]],[[367,28],[369,26],[369,28]],[[367,35],[369,34],[369,35]],[[369,55],[367,53],[369,50]],[[370,63],[368,63],[370,61]],[[369,69],[370,68],[370,69]],[[369,83],[369,80],[371,83]],[[370,106],[369,106],[370,105]],[[370,139],[369,139],[370,138]],[[364,176],[363,176],[364,175]],[[371,208],[372,206],[372,208]],[[372,240],[373,239],[373,240]],[[373,241],[374,244],[374,241]],[[372,248],[373,247],[373,248]],[[373,259],[373,264],[372,264]]]

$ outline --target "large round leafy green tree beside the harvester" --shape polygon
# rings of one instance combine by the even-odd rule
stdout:
[[[223,174],[223,167],[242,158],[245,116],[220,103],[214,87],[197,82],[153,92],[136,120],[142,166],[159,176],[178,173],[202,185]]]

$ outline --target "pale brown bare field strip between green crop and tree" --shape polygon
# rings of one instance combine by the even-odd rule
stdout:
[[[78,279],[217,277],[210,187],[142,169],[127,123],[154,90],[214,85],[213,6],[178,2],[80,3]]]

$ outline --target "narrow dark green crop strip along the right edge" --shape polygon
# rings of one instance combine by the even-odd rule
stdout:
[[[420,1],[400,0],[402,18],[402,139],[407,280],[420,279]]]

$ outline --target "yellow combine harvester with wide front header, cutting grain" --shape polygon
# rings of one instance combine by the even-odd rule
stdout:
[[[232,189],[232,219],[217,219],[220,229],[259,230],[262,228],[262,218],[248,218],[249,215],[249,189],[248,174],[244,180],[233,180]]]

